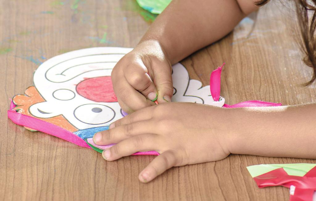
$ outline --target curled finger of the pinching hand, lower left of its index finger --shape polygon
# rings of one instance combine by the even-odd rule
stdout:
[[[136,91],[125,78],[112,78],[113,88],[116,96],[125,103],[132,111],[155,105],[152,101],[145,98],[141,93]],[[125,110],[124,110],[125,111]],[[129,112],[129,111],[125,111]]]

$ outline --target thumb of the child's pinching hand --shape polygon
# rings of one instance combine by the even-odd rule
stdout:
[[[161,63],[160,68],[154,68],[154,84],[158,91],[158,103],[171,102],[173,95],[172,68],[169,63]]]

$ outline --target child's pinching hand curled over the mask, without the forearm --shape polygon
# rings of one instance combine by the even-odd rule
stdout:
[[[160,44],[145,41],[126,54],[113,68],[113,89],[121,108],[131,113],[147,106],[170,102],[172,68]]]

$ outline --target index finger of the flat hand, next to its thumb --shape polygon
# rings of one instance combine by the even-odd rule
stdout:
[[[107,161],[114,161],[121,157],[130,156],[138,151],[156,150],[157,136],[154,134],[137,135],[113,145],[104,150],[102,156]]]

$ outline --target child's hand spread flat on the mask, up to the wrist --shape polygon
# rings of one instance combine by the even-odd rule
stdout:
[[[230,116],[228,112],[197,103],[163,103],[113,122],[109,130],[96,133],[93,139],[97,145],[118,143],[103,151],[107,161],[138,151],[159,152],[139,174],[141,181],[148,182],[173,166],[227,157],[231,153],[228,135],[233,132],[223,123]]]

